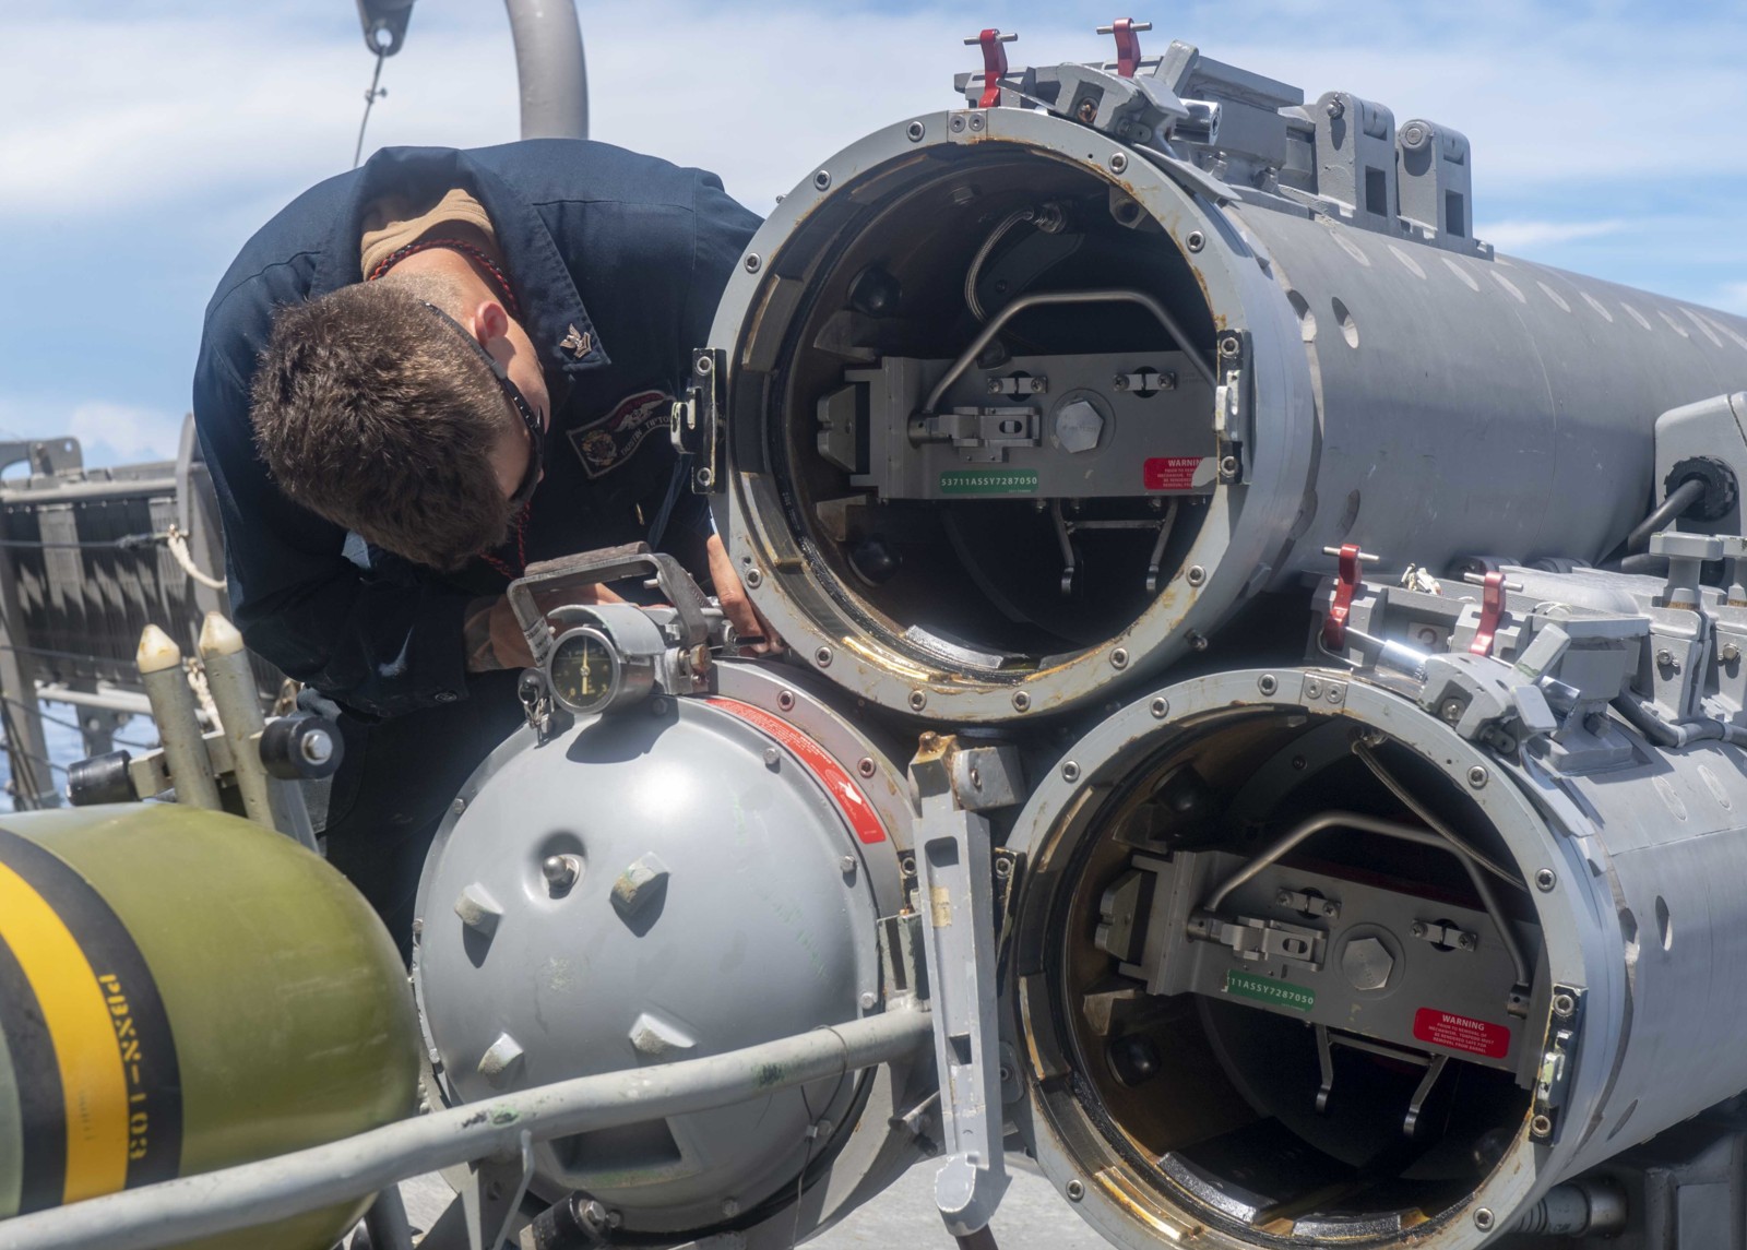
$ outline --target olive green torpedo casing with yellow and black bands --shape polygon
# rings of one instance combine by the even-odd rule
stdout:
[[[416,1089],[405,969],[320,857],[187,807],[0,821],[0,1217],[362,1133]],[[363,1206],[222,1243],[330,1247]]]

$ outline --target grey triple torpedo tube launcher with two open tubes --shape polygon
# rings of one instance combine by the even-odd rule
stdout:
[[[1747,323],[1499,257],[1459,133],[1143,30],[984,31],[742,257],[673,431],[791,662],[646,552],[512,588],[428,1114],[0,1245],[463,1161],[475,1245],[791,1245],[921,1159],[970,1236],[1015,1142],[1130,1250],[1735,1245]],[[535,608],[625,576],[669,606]]]

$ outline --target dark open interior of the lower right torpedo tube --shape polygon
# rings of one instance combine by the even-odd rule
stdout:
[[[1548,972],[1460,780],[1284,709],[1125,773],[1066,817],[1041,918],[1052,1020],[1027,1032],[1073,1072],[1050,1105],[1097,1144],[1074,1164],[1116,1154],[1244,1245],[1394,1241],[1462,1206],[1527,1131]]]

